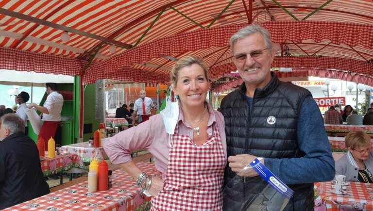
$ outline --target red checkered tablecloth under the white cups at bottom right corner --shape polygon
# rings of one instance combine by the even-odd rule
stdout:
[[[351,182],[345,190],[344,195],[333,193],[332,182],[319,182],[315,188],[320,196],[315,200],[315,211],[327,210],[373,210],[373,184],[362,182]]]

